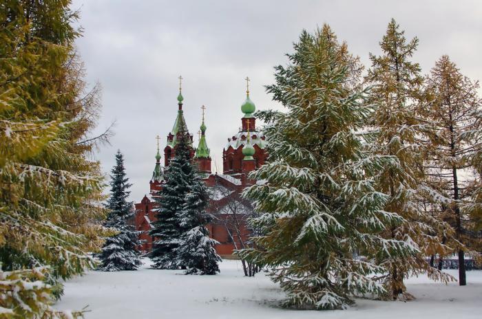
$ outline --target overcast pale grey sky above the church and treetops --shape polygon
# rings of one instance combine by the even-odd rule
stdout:
[[[98,131],[117,122],[112,146],[96,158],[108,173],[121,149],[133,201],[149,192],[156,135],[164,148],[174,124],[178,76],[196,144],[200,107],[207,106],[213,171],[215,164],[221,171],[222,148],[240,126],[244,78],[251,78],[257,109],[279,107],[263,86],[273,82],[274,65],[286,64],[284,54],[303,29],[328,23],[369,67],[368,53],[379,53],[393,17],[407,39],[418,36],[414,61],[424,74],[448,54],[463,74],[482,78],[482,1],[74,0],[72,8],[81,10],[77,45],[87,81],[103,86]]]

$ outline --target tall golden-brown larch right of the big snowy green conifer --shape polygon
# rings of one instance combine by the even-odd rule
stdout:
[[[377,190],[390,196],[384,210],[404,218],[403,223],[392,225],[385,237],[406,241],[419,250],[408,257],[378,259],[379,265],[389,270],[384,281],[387,297],[393,299],[411,297],[406,294],[404,278],[412,274],[428,272],[433,279],[450,279],[426,261],[427,256],[448,250],[437,236],[444,223],[426,214],[421,206],[425,201],[421,194],[433,192],[423,184],[426,145],[421,137],[430,132],[430,127],[417,117],[423,78],[418,63],[410,61],[417,44],[417,38],[407,42],[404,31],[392,19],[380,42],[381,56],[370,54],[372,67],[366,76],[366,83],[372,86],[368,100],[376,107],[368,123],[377,132],[369,151],[398,159],[396,165],[386,166],[376,178]]]

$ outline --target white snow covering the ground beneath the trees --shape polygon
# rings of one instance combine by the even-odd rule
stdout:
[[[410,278],[407,303],[358,299],[355,307],[337,311],[297,311],[277,307],[284,297],[264,274],[244,277],[239,261],[225,260],[216,276],[186,276],[181,270],[151,270],[145,259],[134,272],[88,272],[65,283],[57,309],[82,309],[95,318],[196,319],[400,319],[482,318],[482,271],[467,273],[468,285]],[[457,270],[448,270],[457,277]]]

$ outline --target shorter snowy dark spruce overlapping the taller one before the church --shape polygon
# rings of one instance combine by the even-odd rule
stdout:
[[[186,274],[214,275],[219,272],[221,257],[214,249],[218,241],[209,238],[205,226],[213,219],[206,211],[209,201],[207,187],[194,169],[189,176],[189,184],[189,193],[180,212],[182,234],[177,249],[177,263],[187,267]]]

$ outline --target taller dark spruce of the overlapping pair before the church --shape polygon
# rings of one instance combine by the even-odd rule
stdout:
[[[149,232],[154,237],[150,258],[154,261],[152,267],[156,269],[186,267],[178,263],[177,248],[182,234],[180,214],[189,193],[189,176],[193,167],[189,157],[189,135],[180,131],[179,137],[176,155],[165,169],[166,182],[156,197],[157,221],[152,223]]]

